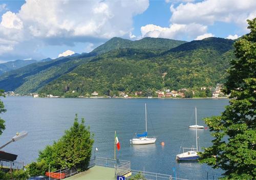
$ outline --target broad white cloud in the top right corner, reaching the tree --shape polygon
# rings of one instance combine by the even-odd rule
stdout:
[[[234,22],[245,30],[246,19],[256,17],[256,3],[254,0],[205,0],[177,7],[172,5],[170,11],[173,13],[170,18],[172,23],[210,25],[216,21]]]

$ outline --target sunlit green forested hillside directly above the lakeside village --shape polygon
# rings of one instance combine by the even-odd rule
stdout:
[[[63,96],[118,95],[169,88],[199,88],[223,83],[233,41],[207,38],[166,52],[154,49],[114,49],[84,63],[40,90]],[[72,92],[73,91],[73,92]]]

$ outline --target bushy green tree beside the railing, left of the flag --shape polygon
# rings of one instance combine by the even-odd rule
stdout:
[[[37,162],[28,165],[29,174],[45,174],[49,165],[51,171],[66,167],[85,170],[91,158],[94,142],[92,138],[90,127],[85,125],[83,118],[79,123],[76,115],[73,126],[65,132],[65,135],[53,145],[48,145],[44,150],[39,151]]]

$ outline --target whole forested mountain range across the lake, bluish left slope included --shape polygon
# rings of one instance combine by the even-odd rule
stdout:
[[[170,41],[174,45],[167,48]],[[93,91],[114,95],[119,91],[215,86],[225,81],[229,61],[235,58],[232,44],[232,40],[223,38],[191,42],[112,38],[89,54],[34,63],[4,73],[0,89],[76,97]]]

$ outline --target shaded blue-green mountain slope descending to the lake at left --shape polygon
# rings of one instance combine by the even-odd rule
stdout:
[[[52,61],[37,62],[6,72],[0,76],[0,89],[26,94],[36,92],[60,75],[73,70],[95,54],[60,57]]]

